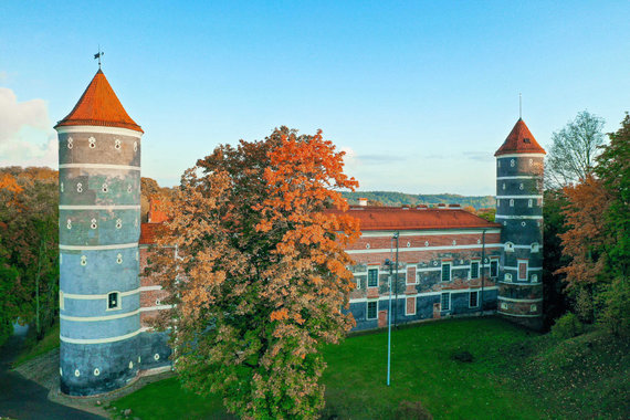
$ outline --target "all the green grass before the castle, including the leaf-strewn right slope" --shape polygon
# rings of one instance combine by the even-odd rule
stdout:
[[[421,401],[435,419],[630,418],[630,343],[600,332],[568,340],[498,318],[426,323],[327,346],[326,418],[391,419],[402,400]],[[470,364],[451,356],[468,350]],[[229,418],[218,397],[182,391],[176,378],[113,403],[144,420]]]

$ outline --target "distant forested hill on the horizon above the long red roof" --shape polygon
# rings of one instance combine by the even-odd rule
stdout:
[[[441,195],[412,195],[396,191],[360,191],[343,192],[350,204],[358,204],[359,198],[367,198],[370,204],[380,202],[382,206],[437,206],[439,203],[460,204],[461,207],[472,206],[475,210],[493,208],[495,199],[492,196],[460,196],[454,193]]]

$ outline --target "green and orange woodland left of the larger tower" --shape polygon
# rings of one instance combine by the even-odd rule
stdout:
[[[33,322],[40,338],[59,313],[56,185],[49,168],[0,169],[0,306],[11,323]]]

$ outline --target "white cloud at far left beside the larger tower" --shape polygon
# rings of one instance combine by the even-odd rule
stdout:
[[[57,165],[57,139],[43,99],[18,102],[0,87],[0,166]]]

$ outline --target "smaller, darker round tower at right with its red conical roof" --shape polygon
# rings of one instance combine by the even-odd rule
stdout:
[[[498,313],[539,328],[543,321],[543,172],[545,150],[518,118],[496,156],[501,231]]]

